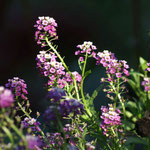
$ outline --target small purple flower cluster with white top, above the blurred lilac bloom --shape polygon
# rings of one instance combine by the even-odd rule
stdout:
[[[23,121],[21,121],[21,124],[23,125],[24,128],[30,128],[33,132],[35,131],[41,131],[39,125],[41,124],[39,121],[37,121],[34,118],[24,118]]]

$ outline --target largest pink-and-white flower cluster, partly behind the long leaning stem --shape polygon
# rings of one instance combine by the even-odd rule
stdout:
[[[47,76],[48,86],[64,88],[67,84],[71,85],[73,79],[69,73],[65,72],[65,68],[61,62],[58,62],[57,56],[53,52],[40,51],[37,55],[37,68],[42,75]],[[81,83],[81,75],[78,72],[72,72],[78,85]]]

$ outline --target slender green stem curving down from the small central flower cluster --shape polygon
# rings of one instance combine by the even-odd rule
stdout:
[[[91,116],[91,113],[90,113],[90,111],[87,107],[87,103],[86,103],[84,92],[83,92],[83,83],[84,83],[84,79],[85,79],[85,68],[86,68],[86,63],[87,63],[87,57],[88,57],[88,53],[86,52],[84,66],[83,66],[83,69],[82,69],[81,96],[82,96],[83,104],[85,106],[85,110],[87,111],[88,115]]]

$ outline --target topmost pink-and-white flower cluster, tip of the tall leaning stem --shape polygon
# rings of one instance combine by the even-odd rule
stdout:
[[[57,23],[50,17],[39,17],[34,27],[37,29],[35,32],[35,40],[41,47],[46,46],[45,37],[58,39],[56,33]]]

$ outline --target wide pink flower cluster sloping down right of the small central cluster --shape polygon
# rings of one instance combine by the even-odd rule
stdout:
[[[125,60],[117,60],[115,55],[107,50],[98,52],[96,57],[97,65],[102,64],[106,68],[106,73],[110,75],[108,81],[112,81],[113,77],[121,78],[129,76],[129,65]]]

